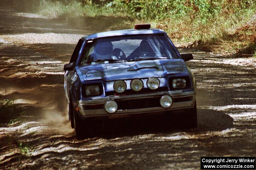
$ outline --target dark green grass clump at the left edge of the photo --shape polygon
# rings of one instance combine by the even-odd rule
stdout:
[[[20,115],[24,112],[20,106],[16,105],[13,100],[0,100],[0,122],[15,123],[20,121]]]

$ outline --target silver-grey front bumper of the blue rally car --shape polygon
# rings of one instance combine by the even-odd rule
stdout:
[[[152,105],[152,107],[146,108],[136,108],[136,109],[117,109],[114,113],[108,113],[105,111],[104,108],[100,109],[86,109],[88,106],[96,106],[96,105],[104,105],[108,100],[115,100],[116,102],[126,102],[132,100],[147,100],[147,99],[156,99],[155,103],[160,103],[158,100],[159,97],[163,96],[164,94],[169,94],[172,99],[173,103],[169,108],[163,108],[161,106]],[[175,91],[162,91],[162,92],[155,92],[155,93],[148,93],[148,94],[133,94],[127,96],[113,96],[113,97],[103,97],[97,98],[93,100],[86,100],[86,101],[78,101],[78,108],[81,115],[84,118],[87,117],[96,117],[96,116],[112,116],[112,115],[132,115],[132,114],[141,114],[141,113],[153,113],[153,112],[164,112],[164,111],[171,111],[171,110],[179,110],[179,109],[188,109],[194,106],[195,102],[195,91],[189,92],[182,92],[182,90],[175,90]]]

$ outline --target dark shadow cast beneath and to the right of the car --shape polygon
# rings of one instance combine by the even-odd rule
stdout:
[[[233,128],[233,118],[223,112],[211,109],[198,109],[198,127],[184,129],[179,114],[169,115],[143,115],[125,119],[110,119],[98,122],[95,126],[95,136],[105,139],[114,139],[124,136],[136,136],[158,133],[205,133],[207,131],[221,131]],[[102,127],[103,124],[103,127]]]

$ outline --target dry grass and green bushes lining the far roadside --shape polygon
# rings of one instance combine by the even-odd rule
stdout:
[[[122,18],[106,30],[150,23],[177,46],[233,57],[256,55],[256,0],[40,0],[38,7],[50,18]]]

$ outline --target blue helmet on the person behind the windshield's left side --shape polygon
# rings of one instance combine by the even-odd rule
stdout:
[[[98,41],[94,46],[94,52],[98,55],[111,55],[113,44],[111,42]]]

